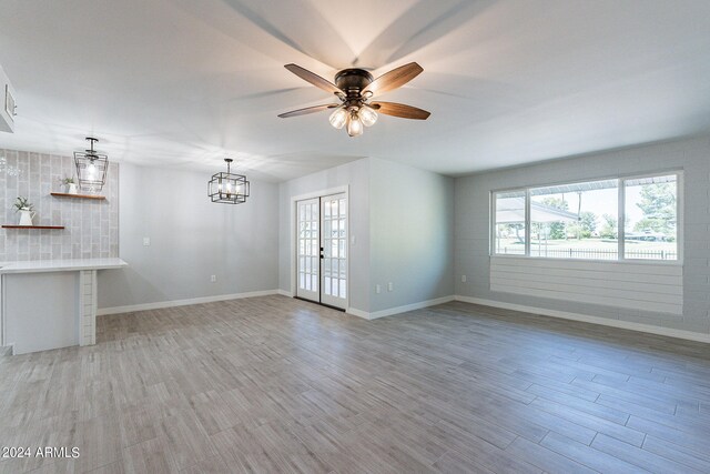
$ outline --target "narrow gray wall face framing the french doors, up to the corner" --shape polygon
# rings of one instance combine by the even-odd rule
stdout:
[[[333,188],[349,186],[349,305],[369,311],[369,160],[353,161],[280,185],[278,288],[291,292],[292,198]]]

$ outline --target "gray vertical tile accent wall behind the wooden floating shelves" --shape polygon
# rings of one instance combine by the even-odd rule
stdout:
[[[34,204],[34,225],[64,230],[0,229],[0,262],[119,256],[119,165],[110,163],[105,201],[54,198],[64,192],[60,180],[74,177],[71,157],[1,150],[0,223],[17,224],[12,204],[27,196]]]

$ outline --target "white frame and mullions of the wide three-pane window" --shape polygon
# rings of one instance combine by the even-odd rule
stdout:
[[[668,177],[676,175],[676,243],[677,243],[677,254],[678,258],[676,260],[652,260],[652,259],[628,259],[626,256],[626,182],[631,180],[638,180],[643,178],[656,178],[656,177]],[[585,259],[585,258],[550,258],[550,256],[531,256],[530,255],[530,190],[537,188],[547,188],[555,185],[564,185],[564,184],[577,184],[577,183],[587,183],[594,181],[607,181],[607,180],[617,180],[617,249],[618,255],[616,260],[600,260],[600,259]],[[505,254],[505,253],[496,253],[496,194],[506,193],[506,192],[525,192],[525,254],[515,255],[515,254]],[[504,189],[495,189],[490,191],[489,198],[489,213],[490,213],[490,222],[489,222],[489,232],[488,238],[490,240],[489,245],[489,256],[496,259],[537,259],[537,260],[555,260],[555,261],[580,261],[580,262],[605,262],[605,263],[633,263],[633,264],[662,264],[662,265],[682,265],[683,264],[683,170],[682,169],[670,169],[670,170],[659,170],[659,171],[650,171],[648,173],[635,173],[635,174],[621,174],[621,175],[612,175],[612,177],[599,177],[599,178],[588,178],[584,180],[565,180],[565,181],[556,181],[556,182],[547,182],[542,184],[530,184],[527,186],[515,186],[515,188],[504,188]]]

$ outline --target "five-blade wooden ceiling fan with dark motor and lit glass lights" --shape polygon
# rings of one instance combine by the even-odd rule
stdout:
[[[357,137],[363,134],[363,125],[375,124],[377,112],[415,120],[426,120],[430,114],[426,110],[404,103],[369,101],[373,97],[400,88],[419,75],[424,69],[416,62],[393,69],[377,79],[364,69],[343,69],[335,74],[335,83],[296,64],[286,64],[284,68],[313,85],[334,93],[341,103],[292,110],[281,113],[278,117],[282,119],[335,109],[331,113],[331,124],[336,129],[345,127],[348,135]]]

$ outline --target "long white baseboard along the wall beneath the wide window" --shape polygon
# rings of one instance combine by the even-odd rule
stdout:
[[[688,341],[710,343],[710,334],[702,334],[692,331],[676,330],[672,327],[655,326],[652,324],[632,323],[629,321],[610,320],[607,317],[590,316],[588,314],[568,313],[566,311],[547,310],[545,307],[526,306],[524,304],[504,303],[495,300],[484,300],[473,296],[454,296],[456,301],[465,303],[480,304],[483,306],[499,307],[503,310],[520,311],[524,313],[540,314],[562,320],[580,321],[584,323],[600,324],[604,326],[619,327],[631,331],[639,331],[650,334],[665,335],[669,337],[684,339]]]

